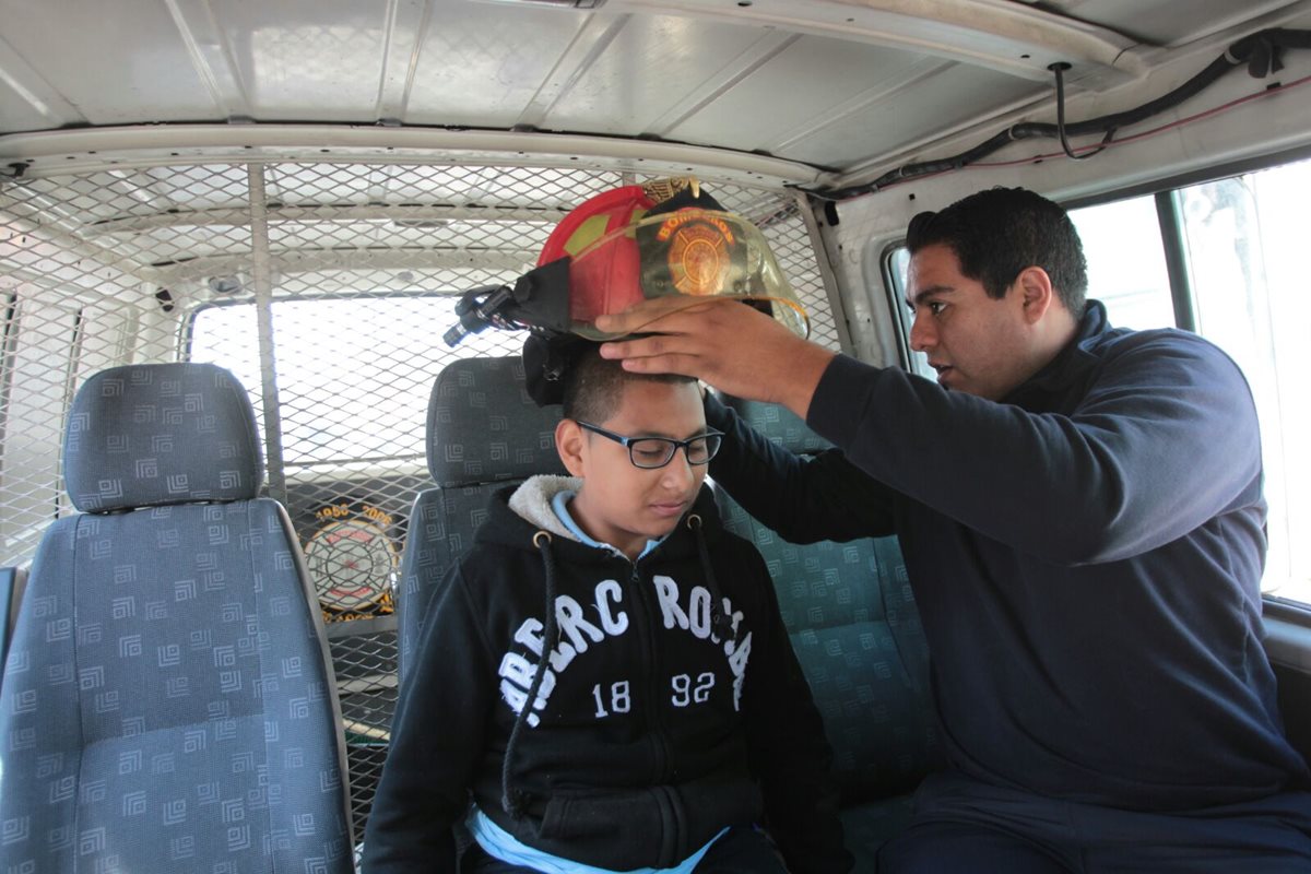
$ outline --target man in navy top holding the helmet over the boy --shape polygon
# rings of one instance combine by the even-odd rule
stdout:
[[[937,385],[726,301],[598,322],[654,334],[603,347],[625,367],[781,402],[842,449],[802,463],[708,401],[712,476],[762,522],[898,535],[950,767],[884,869],[1311,869],[1307,765],[1260,642],[1242,372],[1193,334],[1112,329],[1068,216],[1033,193],[920,214],[907,244]]]

